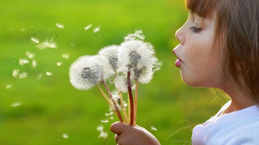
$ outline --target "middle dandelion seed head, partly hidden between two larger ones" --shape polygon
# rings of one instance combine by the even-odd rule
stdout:
[[[109,45],[106,47],[103,47],[98,54],[108,59],[109,64],[112,66],[114,70],[118,69],[118,45]]]

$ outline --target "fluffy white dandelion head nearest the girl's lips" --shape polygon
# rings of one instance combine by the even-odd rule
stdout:
[[[160,69],[161,65],[155,57],[153,45],[142,40],[132,39],[122,42],[118,60],[122,64],[121,67],[131,67],[134,80],[139,80],[143,84],[150,82],[154,72]]]

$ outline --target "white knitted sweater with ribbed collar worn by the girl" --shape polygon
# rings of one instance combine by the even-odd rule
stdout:
[[[259,108],[253,105],[220,115],[230,103],[193,128],[192,145],[259,145]]]

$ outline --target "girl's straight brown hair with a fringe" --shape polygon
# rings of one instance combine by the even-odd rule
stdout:
[[[209,17],[212,10],[216,11],[214,37],[215,40],[221,38],[227,54],[222,65],[224,75],[227,76],[226,68],[238,88],[259,104],[259,1],[185,0],[185,4],[187,10],[202,18]]]

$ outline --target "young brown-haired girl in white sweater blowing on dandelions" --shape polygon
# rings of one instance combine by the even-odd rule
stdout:
[[[173,49],[182,80],[231,100],[192,130],[193,145],[259,144],[259,1],[186,0],[189,18]],[[111,125],[119,145],[159,145],[146,129]]]

